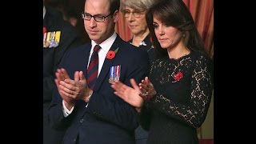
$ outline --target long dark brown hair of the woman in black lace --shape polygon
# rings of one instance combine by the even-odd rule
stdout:
[[[194,24],[194,19],[190,10],[182,0],[159,0],[146,13],[146,23],[150,30],[158,58],[168,56],[167,50],[162,49],[154,33],[153,15],[167,26],[174,26],[185,34],[183,40],[185,46],[190,50],[201,50],[205,52],[204,42],[198,29]]]

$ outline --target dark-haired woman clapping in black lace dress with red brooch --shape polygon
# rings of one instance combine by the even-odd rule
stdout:
[[[118,97],[138,110],[150,130],[147,143],[195,144],[213,90],[212,61],[182,0],[161,0],[146,14],[158,58],[137,85],[113,83]]]

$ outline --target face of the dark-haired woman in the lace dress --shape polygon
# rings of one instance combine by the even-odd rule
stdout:
[[[163,49],[171,49],[182,42],[182,32],[173,26],[166,26],[165,23],[153,17],[154,33]]]

